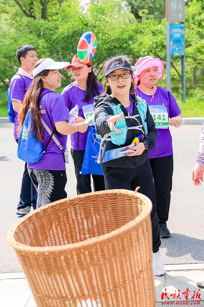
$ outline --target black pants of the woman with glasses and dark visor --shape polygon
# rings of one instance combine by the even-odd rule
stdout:
[[[140,186],[139,192],[149,197],[152,202],[151,222],[152,222],[152,245],[153,253],[158,252],[161,245],[158,217],[156,213],[156,199],[154,182],[149,161],[145,161],[136,169],[126,169],[122,167],[103,167],[106,190],[127,189],[135,191]]]

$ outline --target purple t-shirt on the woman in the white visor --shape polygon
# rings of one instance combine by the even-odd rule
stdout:
[[[48,92],[47,88],[43,88],[40,93],[40,97]],[[39,102],[39,111],[42,119],[50,128],[54,130],[54,123],[62,120],[69,121],[69,111],[65,103],[63,96],[56,92],[46,93]],[[55,133],[54,134],[60,144],[63,146],[64,152],[66,150],[67,135]],[[43,150],[45,149],[47,142],[50,138],[50,134],[43,127]],[[58,148],[56,143],[51,139],[43,157],[39,162],[28,163],[30,169],[50,169],[50,170],[65,170],[65,161],[63,152]]]

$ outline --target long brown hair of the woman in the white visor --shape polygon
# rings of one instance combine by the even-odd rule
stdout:
[[[40,59],[36,62],[34,68],[36,68],[40,63],[45,59]],[[39,95],[43,88],[43,81],[41,77],[46,77],[49,74],[49,69],[44,69],[42,72],[39,72],[33,80],[26,92],[23,99],[23,106],[18,114],[19,126],[18,126],[18,136],[20,135],[21,128],[23,126],[26,114],[28,109],[30,109],[30,114],[33,119],[32,129],[29,127],[29,132],[33,135],[35,130],[35,139],[36,141],[43,142],[43,125],[41,122],[40,112],[39,112]]]

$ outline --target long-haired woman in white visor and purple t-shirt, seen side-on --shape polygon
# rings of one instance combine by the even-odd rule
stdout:
[[[55,62],[50,58],[36,62],[33,80],[25,94],[19,113],[19,128],[24,124],[28,109],[33,120],[30,133],[43,144],[43,156],[38,162],[28,163],[28,173],[38,191],[37,208],[67,197],[66,143],[67,135],[84,133],[89,124],[69,123],[70,115],[65,99],[54,90],[61,87],[61,73],[69,62]],[[51,136],[50,136],[51,134]]]

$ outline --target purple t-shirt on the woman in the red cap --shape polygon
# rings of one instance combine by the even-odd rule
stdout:
[[[99,95],[103,91],[103,87],[99,82],[98,82],[98,91],[99,91]],[[79,115],[78,116],[81,116],[83,118],[84,118],[84,115],[83,115],[82,107],[85,105],[94,103],[93,95],[91,96],[91,99],[88,102],[83,101],[83,98],[85,97],[85,95],[86,95],[86,91],[81,90],[76,85],[75,81],[69,84],[68,86],[66,86],[62,91],[62,96],[65,99],[65,102],[67,104],[69,111],[71,111],[76,106],[76,104],[78,104],[79,105]],[[96,96],[97,95],[98,94],[96,93]],[[86,143],[87,143],[87,135],[88,135],[88,131],[86,131],[85,133],[75,132],[71,134],[72,149],[85,150]]]

